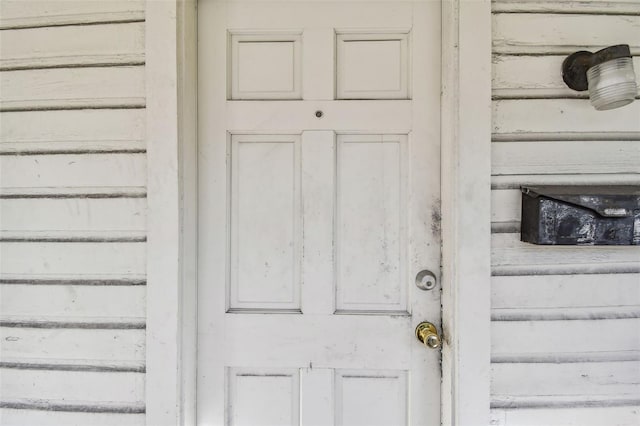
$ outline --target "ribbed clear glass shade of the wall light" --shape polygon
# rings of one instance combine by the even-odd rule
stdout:
[[[638,93],[631,58],[616,58],[587,70],[589,98],[597,110],[619,108],[633,102]]]

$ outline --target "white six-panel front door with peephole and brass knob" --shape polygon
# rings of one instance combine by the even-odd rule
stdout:
[[[439,425],[440,3],[199,3],[198,419]]]

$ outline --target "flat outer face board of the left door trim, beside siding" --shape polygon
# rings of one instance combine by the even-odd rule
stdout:
[[[177,2],[146,2],[147,424],[180,422],[181,201]]]

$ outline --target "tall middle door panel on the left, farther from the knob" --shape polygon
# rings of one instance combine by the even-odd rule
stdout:
[[[297,136],[232,136],[229,309],[300,310]]]

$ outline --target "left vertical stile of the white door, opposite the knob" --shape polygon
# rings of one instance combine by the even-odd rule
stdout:
[[[207,41],[198,45],[198,424],[228,424],[229,381],[219,350],[230,258],[226,14],[226,2],[198,2],[198,38]]]

